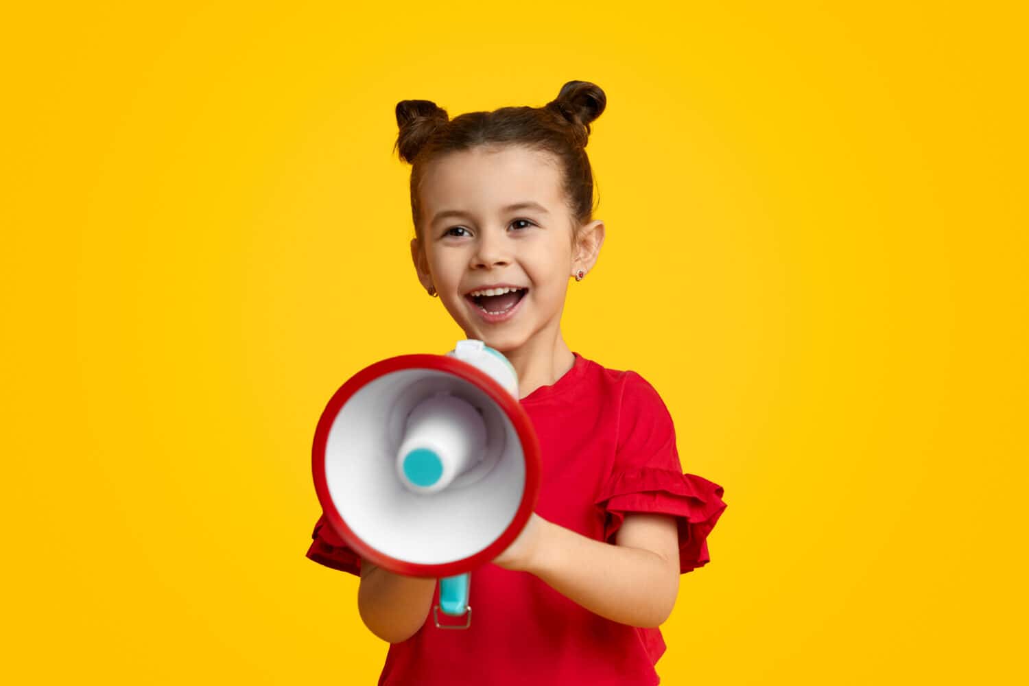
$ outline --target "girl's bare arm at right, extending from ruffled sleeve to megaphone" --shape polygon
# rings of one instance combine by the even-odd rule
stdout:
[[[616,545],[596,541],[533,513],[539,525],[525,544],[498,562],[535,574],[586,609],[632,626],[658,626],[679,592],[679,538],[675,517],[627,513]],[[527,527],[527,530],[529,528]]]

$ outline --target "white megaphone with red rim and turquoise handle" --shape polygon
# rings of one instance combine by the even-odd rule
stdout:
[[[378,567],[439,578],[435,625],[467,628],[470,573],[536,509],[539,441],[510,362],[468,338],[354,374],[322,411],[312,469],[336,534]]]

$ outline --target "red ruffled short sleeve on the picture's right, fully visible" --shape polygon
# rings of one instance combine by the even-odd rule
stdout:
[[[614,465],[595,499],[606,513],[604,540],[614,542],[628,512],[673,515],[679,573],[703,567],[711,559],[707,537],[726,507],[722,492],[713,481],[682,472],[668,408],[646,380],[627,371]]]

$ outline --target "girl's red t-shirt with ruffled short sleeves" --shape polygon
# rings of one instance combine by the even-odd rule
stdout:
[[[614,542],[626,512],[675,515],[680,573],[709,561],[706,538],[725,509],[722,488],[683,474],[672,418],[635,371],[606,369],[573,353],[561,378],[521,400],[541,448],[536,512],[598,541]],[[315,525],[311,559],[360,575],[360,557]],[[439,584],[432,605],[439,602]],[[590,684],[652,686],[665,652],[658,628],[611,621],[527,572],[488,564],[471,573],[467,629],[437,628],[432,612],[390,644],[380,686]],[[458,619],[441,615],[441,623]]]

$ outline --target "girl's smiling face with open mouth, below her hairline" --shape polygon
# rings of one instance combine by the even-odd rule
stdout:
[[[552,155],[522,146],[480,146],[433,160],[422,179],[422,242],[412,242],[419,279],[435,287],[466,337],[501,352],[553,341],[568,279],[589,268],[573,263],[571,217],[556,165]],[[497,286],[526,290],[505,314],[490,315],[470,293]],[[514,297],[485,304],[501,310]]]

